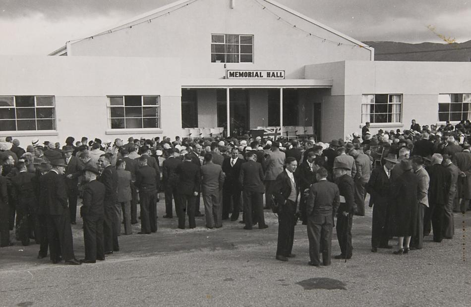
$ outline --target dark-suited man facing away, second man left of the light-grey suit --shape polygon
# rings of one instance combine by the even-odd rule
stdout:
[[[177,167],[181,164],[179,159],[180,152],[178,149],[167,149],[168,158],[165,159],[162,165],[162,183],[165,191],[165,216],[164,218],[173,218],[173,204],[175,200],[175,211],[177,212],[178,202],[178,175]]]

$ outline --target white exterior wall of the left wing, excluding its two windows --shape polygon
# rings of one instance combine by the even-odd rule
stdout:
[[[0,132],[24,146],[33,138],[62,143],[67,136],[114,140],[181,134],[177,59],[3,56],[0,66],[0,95],[56,97],[57,131]],[[107,95],[160,95],[162,128],[110,131]]]

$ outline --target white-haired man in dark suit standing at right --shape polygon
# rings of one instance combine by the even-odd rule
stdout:
[[[423,234],[430,233],[433,227],[433,241],[441,242],[443,239],[443,220],[445,218],[445,205],[448,203],[448,194],[450,193],[451,174],[442,165],[443,157],[441,154],[433,154],[431,166],[427,168],[430,176],[430,185],[428,187],[429,210],[425,210],[423,221]]]

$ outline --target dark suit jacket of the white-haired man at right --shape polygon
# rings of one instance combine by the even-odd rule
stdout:
[[[438,163],[428,167],[427,172],[430,177],[428,203],[445,205],[448,203],[448,193],[450,192],[450,172]]]

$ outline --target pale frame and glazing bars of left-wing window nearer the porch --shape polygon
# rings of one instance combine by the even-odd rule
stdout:
[[[140,96],[141,103],[139,106],[126,106],[126,97],[131,97],[131,96]],[[122,97],[122,104],[121,105],[112,105],[111,100],[112,98],[118,98]],[[144,98],[145,97],[157,97],[157,102],[156,104],[145,104],[144,103]],[[107,95],[108,102],[107,102],[107,122],[108,122],[108,129],[110,131],[126,131],[126,130],[139,130],[139,131],[146,131],[146,130],[160,130],[162,129],[162,97],[161,95]],[[139,107],[141,110],[141,116],[128,116],[126,117],[126,107]],[[144,116],[144,108],[146,107],[155,107],[157,108],[157,113],[156,116],[148,117]],[[112,117],[111,111],[112,108],[122,108],[123,109],[123,117]],[[123,128],[113,128],[112,121],[116,119],[122,119],[123,120]],[[140,119],[141,120],[141,128],[133,128],[133,127],[126,127],[126,119]],[[156,119],[156,127],[144,127],[144,120],[145,119]]]

